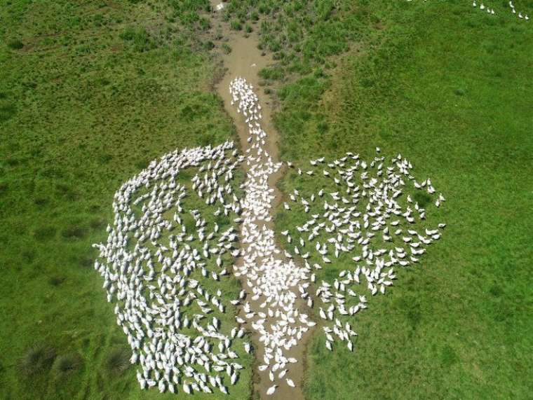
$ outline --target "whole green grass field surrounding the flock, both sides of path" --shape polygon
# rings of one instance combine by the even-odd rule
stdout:
[[[309,399],[533,391],[533,24],[501,3],[496,17],[463,0],[224,11],[274,54],[261,74],[281,105],[285,160],[381,146],[447,197],[443,239],[371,299],[355,352],[311,341]],[[107,236],[116,188],[149,160],[235,135],[210,90],[207,6],[0,0],[0,399],[165,397],[121,371],[126,338],[90,244]],[[280,212],[277,226],[298,218]],[[248,398],[249,379],[234,398]]]

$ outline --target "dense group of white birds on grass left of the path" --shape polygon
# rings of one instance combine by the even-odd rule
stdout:
[[[107,242],[95,244],[95,269],[108,301],[116,302],[116,322],[128,337],[130,361],[140,364],[142,388],[227,393],[227,381],[235,383],[243,368],[231,345],[244,329],[222,333],[215,316],[226,308],[222,292],[201,282],[229,273],[222,258],[238,256],[236,229],[208,223],[199,209],[184,209],[196,193],[215,208],[215,217],[239,213],[232,180],[243,157],[233,147],[185,149],[153,161],[115,193]],[[187,168],[197,173],[186,186],[180,174]],[[243,345],[249,352],[250,344]]]

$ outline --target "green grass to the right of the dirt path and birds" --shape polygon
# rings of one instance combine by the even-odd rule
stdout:
[[[278,90],[284,159],[368,158],[380,146],[447,197],[443,239],[353,320],[355,352],[313,338],[307,398],[530,396],[533,29],[504,11],[357,1],[346,14],[360,20],[357,50],[331,78]],[[318,187],[291,174],[281,184],[302,186]],[[278,229],[302,218],[282,212]]]

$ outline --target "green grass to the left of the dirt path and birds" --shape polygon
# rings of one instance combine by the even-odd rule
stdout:
[[[234,135],[188,34],[206,6],[0,1],[0,399],[165,397],[140,390],[91,244],[150,160]]]

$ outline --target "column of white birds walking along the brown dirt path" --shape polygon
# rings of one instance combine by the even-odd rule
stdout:
[[[283,256],[276,246],[274,230],[269,227],[274,200],[269,177],[279,170],[281,163],[274,163],[265,149],[267,134],[259,123],[262,119],[259,99],[244,78],[231,81],[229,91],[231,104],[236,104],[248,124],[245,160],[248,171],[241,227],[243,263],[235,268],[235,275],[243,277],[251,295],[253,303],[245,303],[243,310],[251,328],[259,333],[259,343],[264,347],[259,371],[268,371],[272,385],[267,394],[274,394],[278,380],[295,386],[290,374],[286,374],[289,372],[287,367],[298,360],[286,353],[316,324],[297,306],[299,297],[309,297],[311,268],[309,265],[301,267]]]

